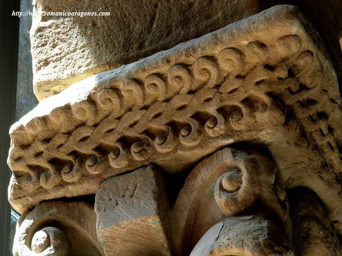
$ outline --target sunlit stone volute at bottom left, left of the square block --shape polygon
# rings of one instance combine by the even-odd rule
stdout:
[[[83,202],[45,202],[17,223],[14,256],[104,256],[94,208]]]

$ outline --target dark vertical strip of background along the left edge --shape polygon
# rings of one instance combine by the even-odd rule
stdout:
[[[8,130],[15,120],[20,0],[0,0],[0,255],[11,255],[11,207],[7,201],[10,170],[6,164],[10,138]]]

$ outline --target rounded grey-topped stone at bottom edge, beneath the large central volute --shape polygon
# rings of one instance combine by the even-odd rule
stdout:
[[[295,256],[277,225],[258,216],[230,217],[212,227],[190,256]]]

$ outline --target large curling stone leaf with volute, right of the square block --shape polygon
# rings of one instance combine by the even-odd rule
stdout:
[[[179,192],[171,215],[174,246],[179,255],[189,254],[216,223],[246,213],[284,223],[282,232],[290,237],[288,210],[285,189],[271,160],[225,148],[201,161]]]

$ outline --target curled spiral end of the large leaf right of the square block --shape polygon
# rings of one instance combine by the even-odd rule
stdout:
[[[236,165],[221,175],[215,184],[215,200],[222,212],[227,217],[235,216],[261,200],[286,221],[288,200],[275,165],[260,155],[240,156],[235,161]]]

